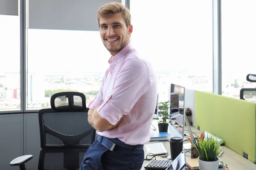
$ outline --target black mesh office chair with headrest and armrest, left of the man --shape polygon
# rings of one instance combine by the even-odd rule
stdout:
[[[79,170],[95,130],[87,121],[84,94],[61,92],[51,97],[51,108],[38,112],[41,152],[38,170]],[[20,156],[10,165],[25,169],[32,155]]]

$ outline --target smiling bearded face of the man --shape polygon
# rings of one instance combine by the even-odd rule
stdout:
[[[131,32],[132,26],[126,27],[121,13],[110,14],[99,19],[102,42],[112,56],[115,56],[130,42]]]

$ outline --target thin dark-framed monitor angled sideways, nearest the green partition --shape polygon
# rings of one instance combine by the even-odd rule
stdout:
[[[183,138],[185,124],[184,106],[185,88],[180,85],[171,84],[169,91],[170,100],[170,126],[169,130],[174,136]],[[178,101],[178,102],[177,102]]]

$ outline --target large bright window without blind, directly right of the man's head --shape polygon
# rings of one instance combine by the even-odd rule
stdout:
[[[131,0],[131,42],[158,77],[160,101],[171,83],[212,92],[212,0]]]

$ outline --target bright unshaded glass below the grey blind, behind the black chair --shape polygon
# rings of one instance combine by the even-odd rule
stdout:
[[[108,57],[97,31],[29,29],[27,107],[50,107],[52,94],[62,91],[84,93],[88,106],[102,85]]]

